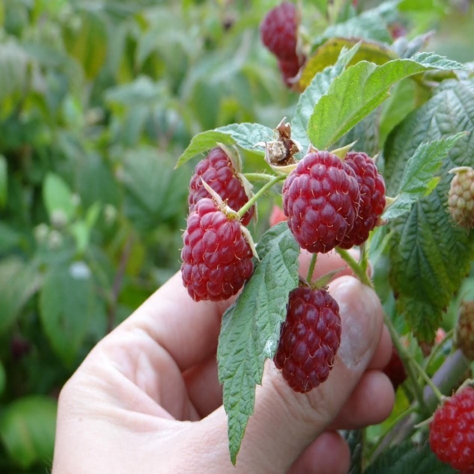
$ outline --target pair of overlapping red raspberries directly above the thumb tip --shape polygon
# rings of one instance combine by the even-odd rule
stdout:
[[[365,153],[309,152],[283,184],[283,212],[302,248],[326,253],[367,240],[385,208],[382,175]]]

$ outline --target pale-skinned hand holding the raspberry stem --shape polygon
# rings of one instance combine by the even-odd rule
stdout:
[[[301,274],[308,267],[300,258]],[[314,276],[343,266],[318,257]],[[394,402],[391,341],[376,294],[344,270],[329,285],[342,341],[326,382],[294,393],[267,360],[237,465],[217,377],[231,301],[195,302],[173,276],[90,352],[59,397],[53,474],[346,473],[336,430],[379,423]]]

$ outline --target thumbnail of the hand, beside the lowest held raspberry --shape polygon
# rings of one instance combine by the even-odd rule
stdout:
[[[334,280],[329,292],[338,302],[341,315],[339,359],[349,369],[368,364],[382,329],[381,307],[377,295],[350,276]]]

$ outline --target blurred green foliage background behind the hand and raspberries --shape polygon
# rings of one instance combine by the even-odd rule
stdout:
[[[277,3],[0,0],[0,472],[50,468],[61,386],[179,268],[190,139],[291,116],[258,33]],[[378,2],[326,3],[300,1],[304,28]],[[473,2],[405,0],[380,26],[473,60]]]

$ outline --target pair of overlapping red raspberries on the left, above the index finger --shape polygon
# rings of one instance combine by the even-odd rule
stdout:
[[[212,198],[203,181],[220,196],[221,203]],[[242,226],[252,219],[254,206],[241,220],[237,216],[247,202],[239,170],[223,148],[213,148],[197,164],[189,186],[181,274],[194,300],[228,299],[250,278],[253,253]]]

